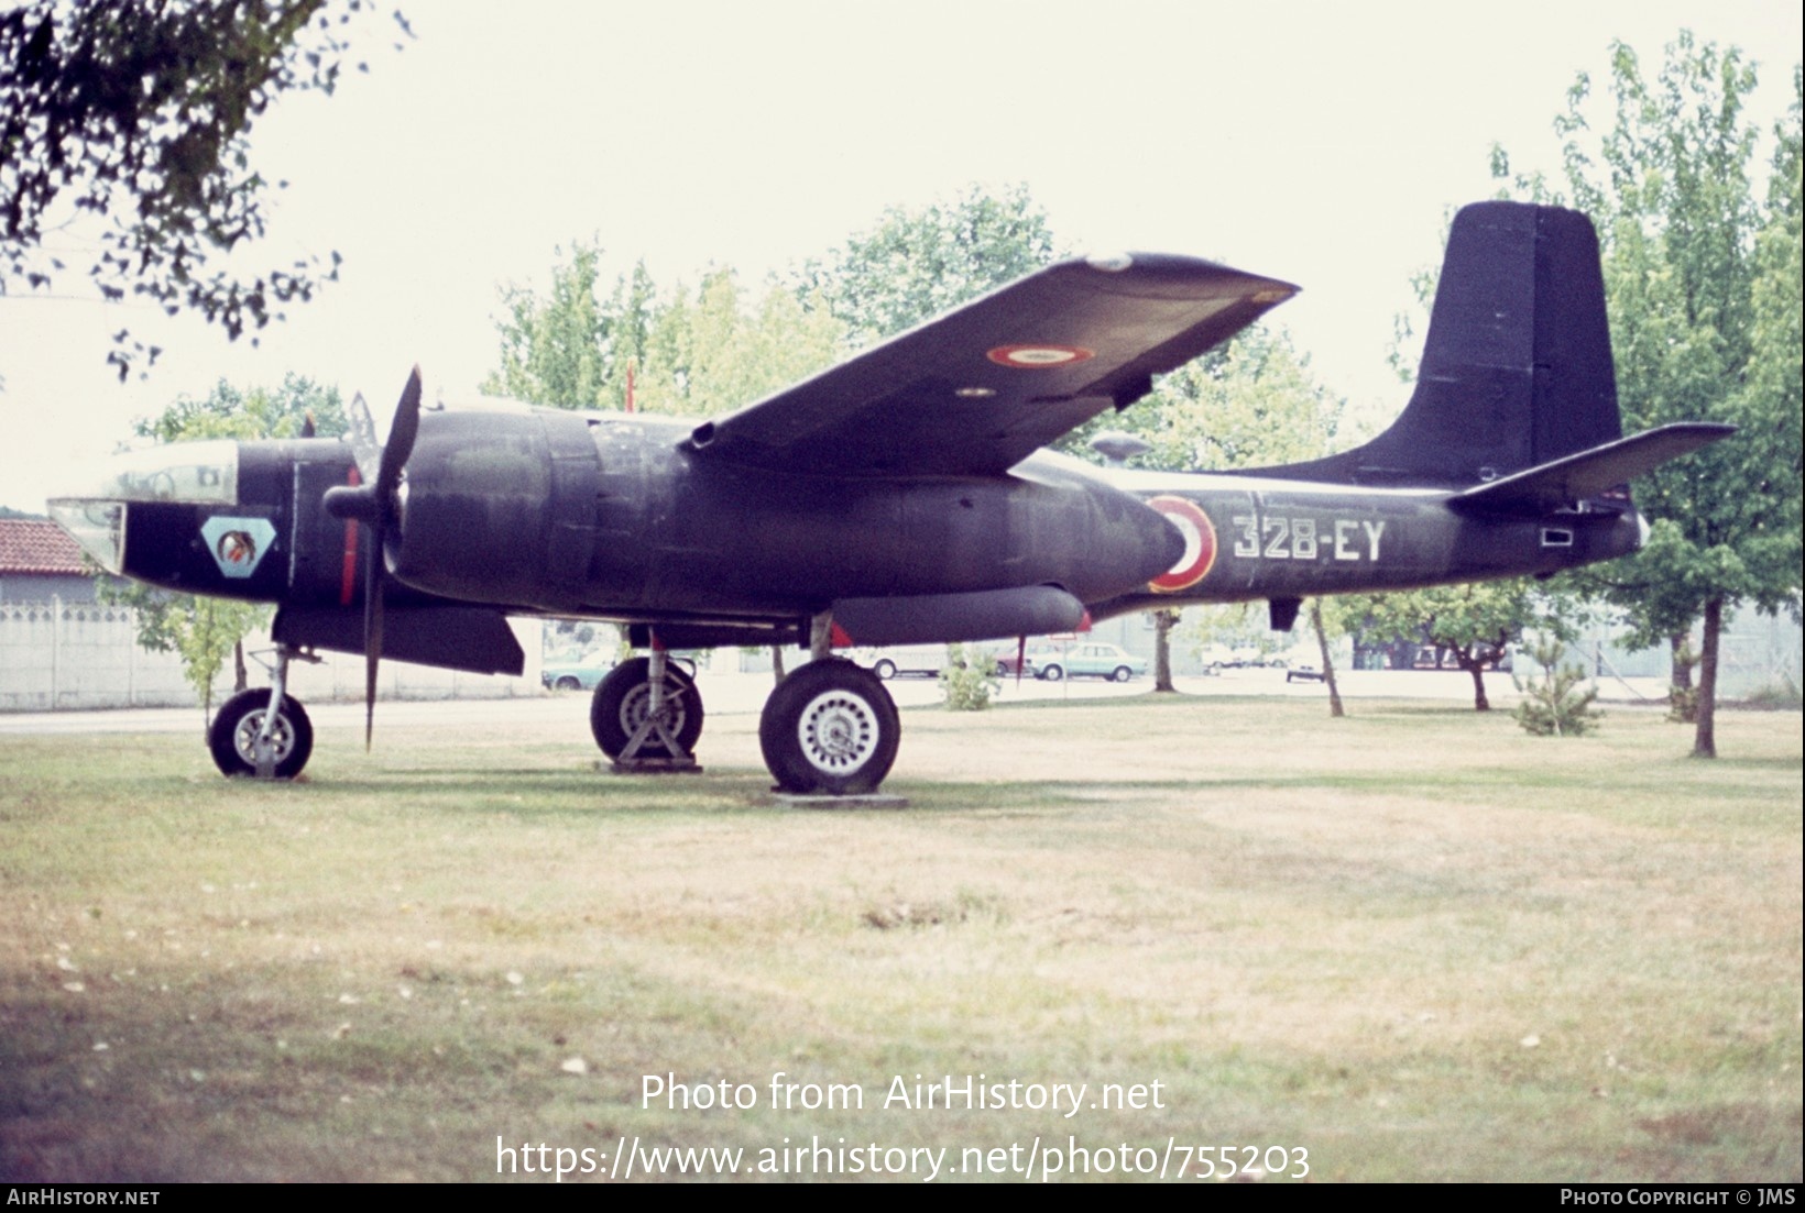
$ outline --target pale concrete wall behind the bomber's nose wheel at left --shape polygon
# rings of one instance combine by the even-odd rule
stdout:
[[[516,620],[527,652],[523,678],[460,674],[404,661],[383,661],[377,696],[384,699],[505,699],[538,696],[540,622]],[[269,649],[267,636],[245,642],[247,652]],[[319,665],[294,661],[289,692],[305,701],[363,699],[361,656],[323,654]],[[269,654],[264,656],[269,660]],[[249,683],[267,687],[269,674],[249,660]],[[220,703],[233,690],[233,669],[213,687]],[[0,602],[0,712],[65,708],[193,707],[195,690],[173,652],[137,647],[135,613],[96,602]]]

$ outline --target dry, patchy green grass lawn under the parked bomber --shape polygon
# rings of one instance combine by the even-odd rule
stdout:
[[[751,717],[677,779],[505,705],[374,757],[325,730],[292,786],[186,737],[4,737],[0,1175],[1040,1135],[1303,1146],[1316,1181],[1798,1181],[1800,717],[1724,714],[1700,762],[1653,712],[1560,741],[1354,710],[906,712],[904,811],[773,804]],[[776,1072],[865,1107],[773,1110]],[[760,1107],[641,1107],[646,1074]],[[915,1074],[1164,1107],[884,1108]]]

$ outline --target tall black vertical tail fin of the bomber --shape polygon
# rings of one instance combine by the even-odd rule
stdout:
[[[1621,434],[1592,222],[1478,202],[1448,234],[1417,388],[1397,422],[1354,451],[1262,472],[1464,488]]]

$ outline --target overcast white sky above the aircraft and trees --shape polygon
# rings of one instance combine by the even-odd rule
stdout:
[[[498,287],[547,281],[572,238],[601,240],[610,278],[644,258],[666,287],[711,263],[756,285],[971,182],[1025,182],[1078,249],[1300,283],[1274,321],[1330,389],[1390,413],[1392,317],[1448,209],[1493,191],[1493,141],[1556,171],[1552,119],[1578,70],[1605,78],[1614,38],[1650,76],[1682,27],[1742,47],[1763,126],[1801,54],[1782,0],[403,7],[415,41],[393,52],[368,22],[368,76],[289,97],[253,133],[258,168],[291,182],[260,263],[345,258],[260,346],[94,303],[79,269],[54,299],[0,296],[0,505],[42,510],[132,418],[220,377],[294,369],[386,416],[419,362],[428,398],[471,397]],[[148,382],[105,364],[119,328],[164,346]]]

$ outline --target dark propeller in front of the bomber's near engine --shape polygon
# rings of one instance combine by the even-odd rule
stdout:
[[[388,445],[377,445],[370,407],[359,395],[350,402],[350,445],[357,460],[356,485],[329,488],[327,514],[345,521],[363,523],[370,543],[365,544],[363,566],[363,748],[375,735],[375,672],[383,661],[383,598],[386,595],[388,532],[401,521],[401,472],[413,454],[413,440],[421,433],[421,368],[408,375],[395,406],[395,420],[388,427]]]

